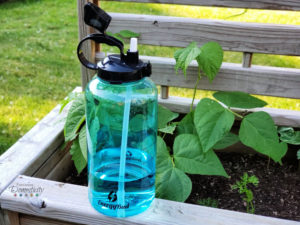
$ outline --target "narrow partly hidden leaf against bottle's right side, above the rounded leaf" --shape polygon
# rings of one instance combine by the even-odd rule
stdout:
[[[164,172],[173,167],[172,158],[167,149],[165,141],[157,136],[157,153],[156,153],[156,171],[158,173]]]

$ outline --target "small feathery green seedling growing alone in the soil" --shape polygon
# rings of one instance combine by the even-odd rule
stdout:
[[[248,173],[244,173],[240,181],[237,181],[231,186],[232,190],[238,189],[240,194],[244,194],[243,200],[246,202],[247,213],[254,213],[255,206],[253,204],[253,192],[248,188],[249,184],[253,184],[255,187],[258,186],[259,180],[256,176],[249,176]]]

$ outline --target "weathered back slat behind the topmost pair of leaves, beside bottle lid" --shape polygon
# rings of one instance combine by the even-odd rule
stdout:
[[[192,62],[187,76],[174,70],[175,60],[163,57],[141,56],[152,64],[151,79],[157,85],[194,88],[197,78],[197,63]],[[206,77],[200,81],[199,89],[220,91],[245,91],[251,94],[300,98],[300,69],[251,66],[223,63],[222,68],[210,83]]]

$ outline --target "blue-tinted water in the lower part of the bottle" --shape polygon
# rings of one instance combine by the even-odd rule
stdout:
[[[100,162],[89,174],[89,197],[95,209],[120,217],[138,214],[149,207],[155,194],[155,168],[149,154],[127,148],[123,204],[118,202],[120,148],[103,149],[94,160]]]

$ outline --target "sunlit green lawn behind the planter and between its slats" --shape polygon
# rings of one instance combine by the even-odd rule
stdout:
[[[299,12],[102,2],[107,11],[300,25]],[[80,85],[76,0],[11,0],[0,4],[0,154]],[[230,17],[230,18],[229,18]],[[140,46],[173,57],[177,48]],[[242,54],[226,52],[239,63]],[[299,57],[255,54],[254,64],[300,68]],[[171,94],[190,96],[186,89]],[[211,96],[202,91],[197,97]],[[300,110],[299,100],[263,97],[270,107]]]

